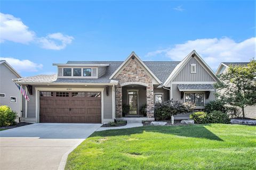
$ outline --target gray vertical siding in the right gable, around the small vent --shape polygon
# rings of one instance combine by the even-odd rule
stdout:
[[[196,64],[196,73],[191,73],[190,64]],[[215,81],[195,58],[191,58],[173,81]]]

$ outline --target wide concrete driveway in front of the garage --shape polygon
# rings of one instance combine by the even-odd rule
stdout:
[[[38,123],[0,132],[1,169],[63,169],[101,124]]]

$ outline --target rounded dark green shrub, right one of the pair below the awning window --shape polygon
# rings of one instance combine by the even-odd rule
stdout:
[[[213,111],[206,115],[207,123],[230,123],[230,119],[226,113],[220,111]]]

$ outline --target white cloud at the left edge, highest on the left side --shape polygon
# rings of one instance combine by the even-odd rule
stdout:
[[[10,14],[0,13],[0,42],[13,41],[28,44],[34,40],[35,33],[18,18]]]

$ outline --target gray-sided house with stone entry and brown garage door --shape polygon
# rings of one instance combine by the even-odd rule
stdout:
[[[68,61],[57,75],[18,79],[28,91],[22,121],[105,123],[117,120],[154,120],[154,103],[178,99],[197,109],[214,100],[214,72],[196,53],[181,62],[142,61],[132,52],[125,61]],[[130,105],[123,116],[122,107]],[[147,104],[147,116],[140,109]],[[189,115],[177,115],[182,120]]]

